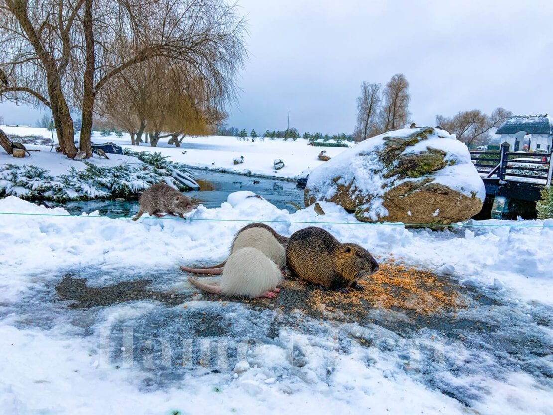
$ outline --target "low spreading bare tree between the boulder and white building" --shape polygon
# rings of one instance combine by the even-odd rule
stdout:
[[[510,111],[498,107],[487,116],[481,110],[460,111],[453,117],[436,116],[436,122],[444,129],[455,133],[457,139],[467,145],[482,145],[489,142],[493,128],[512,116]]]

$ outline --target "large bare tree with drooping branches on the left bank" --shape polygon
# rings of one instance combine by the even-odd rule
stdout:
[[[244,20],[224,0],[0,0],[0,96],[51,108],[72,158],[70,107],[82,111],[90,157],[96,96],[113,77],[156,58],[204,80],[222,106],[236,93]]]

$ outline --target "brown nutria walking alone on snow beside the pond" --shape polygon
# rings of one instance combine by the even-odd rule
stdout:
[[[175,190],[166,183],[158,183],[150,186],[140,196],[140,210],[133,220],[137,220],[144,212],[161,217],[161,212],[169,215],[183,217],[185,213],[192,211],[192,202],[188,196]]]

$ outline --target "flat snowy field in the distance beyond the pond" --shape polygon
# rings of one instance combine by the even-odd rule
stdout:
[[[1,128],[7,134],[51,136],[50,131],[46,128],[8,126],[1,126]],[[159,152],[164,156],[169,156],[169,160],[172,162],[183,163],[190,167],[284,179],[298,178],[304,170],[313,169],[325,163],[317,158],[317,155],[323,150],[332,158],[346,149],[343,147],[307,146],[307,141],[302,138],[298,138],[298,141],[264,138],[263,142],[257,138],[252,143],[251,140],[248,142],[237,141],[236,137],[227,136],[186,137],[180,148],[169,146],[168,138],[161,140],[157,147],[150,147],[150,144],[144,143],[137,147],[130,145],[131,138],[127,133],[123,133],[122,137],[117,137],[115,134],[103,137],[97,131],[92,134],[92,142],[96,144],[113,142],[132,151]],[[30,146],[30,148],[35,147]],[[241,156],[244,157],[244,163],[234,165],[233,159]],[[273,168],[275,159],[283,160],[285,167],[275,171]],[[0,163],[3,163],[2,159],[0,159]]]

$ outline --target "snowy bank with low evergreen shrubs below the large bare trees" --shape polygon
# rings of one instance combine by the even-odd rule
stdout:
[[[39,137],[46,131],[45,128],[11,128],[8,129],[11,133],[15,129]],[[197,187],[184,165],[160,157],[140,157],[152,153],[131,153],[136,157],[109,154],[109,159],[93,155],[79,161],[68,159],[44,145],[26,143],[25,146],[36,152],[25,158],[15,158],[0,151],[0,196],[53,201],[137,198],[150,185],[160,181],[180,190]]]

